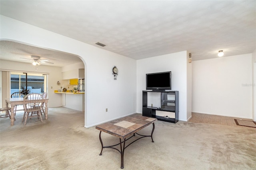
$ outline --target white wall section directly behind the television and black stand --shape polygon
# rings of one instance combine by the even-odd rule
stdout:
[[[137,60],[138,113],[142,113],[142,90],[146,90],[146,74],[172,71],[172,90],[179,91],[179,120],[188,120],[187,62],[186,51]]]

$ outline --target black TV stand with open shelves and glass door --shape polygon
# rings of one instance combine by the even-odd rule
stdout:
[[[148,92],[161,93],[160,107],[148,106]],[[177,123],[179,118],[179,92],[164,90],[142,91],[142,116]]]

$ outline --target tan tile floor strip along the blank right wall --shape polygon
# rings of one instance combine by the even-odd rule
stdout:
[[[251,120],[251,119],[244,119],[244,118],[217,116],[212,114],[192,113],[192,118],[189,120],[189,122],[237,126],[234,119]]]

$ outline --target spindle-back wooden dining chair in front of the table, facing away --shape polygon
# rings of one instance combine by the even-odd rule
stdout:
[[[43,96],[37,93],[28,94],[24,98],[24,105],[23,105],[24,115],[22,119],[22,122],[25,119],[24,125],[26,125],[28,118],[33,118],[33,117],[37,117],[38,119],[40,118],[41,122],[43,122],[42,116],[41,116],[42,102],[43,102]],[[30,113],[32,114],[29,116]]]

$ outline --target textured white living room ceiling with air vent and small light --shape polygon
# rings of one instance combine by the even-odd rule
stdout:
[[[256,49],[255,0],[1,0],[0,5],[4,16],[136,60],[184,50],[202,60],[218,57],[218,50],[233,56]]]

